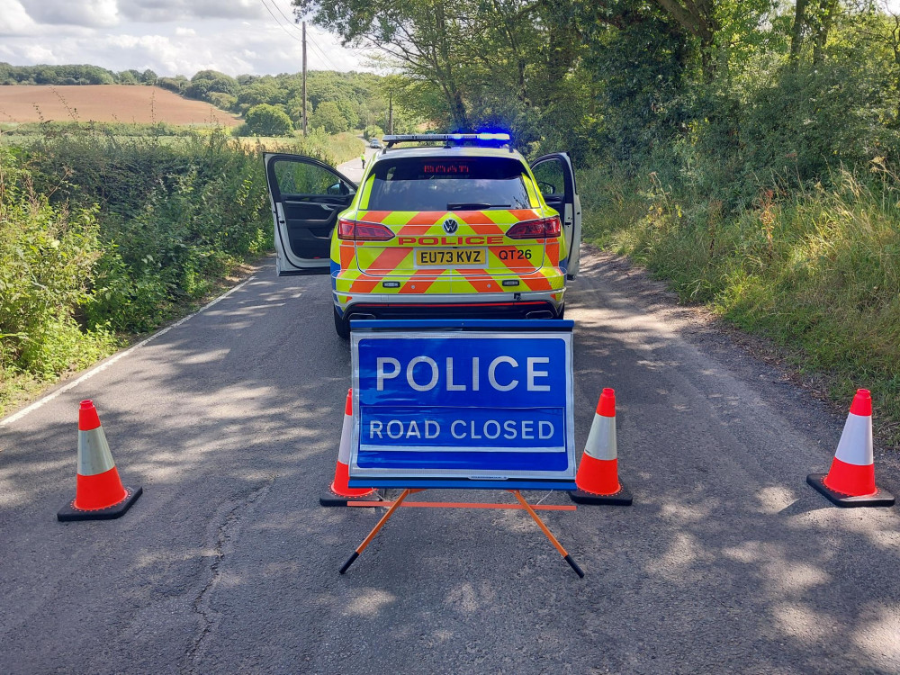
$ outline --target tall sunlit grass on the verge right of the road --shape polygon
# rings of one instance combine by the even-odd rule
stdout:
[[[828,187],[762,187],[752,207],[595,168],[581,175],[585,233],[742,329],[789,347],[850,401],[872,390],[900,444],[900,178],[877,159]]]

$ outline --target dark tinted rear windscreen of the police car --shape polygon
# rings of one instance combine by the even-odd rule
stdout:
[[[378,162],[371,211],[530,209],[525,168],[510,157],[398,157]]]

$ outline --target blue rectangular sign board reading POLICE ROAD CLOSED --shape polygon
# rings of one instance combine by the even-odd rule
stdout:
[[[351,485],[574,489],[572,321],[360,321]]]

